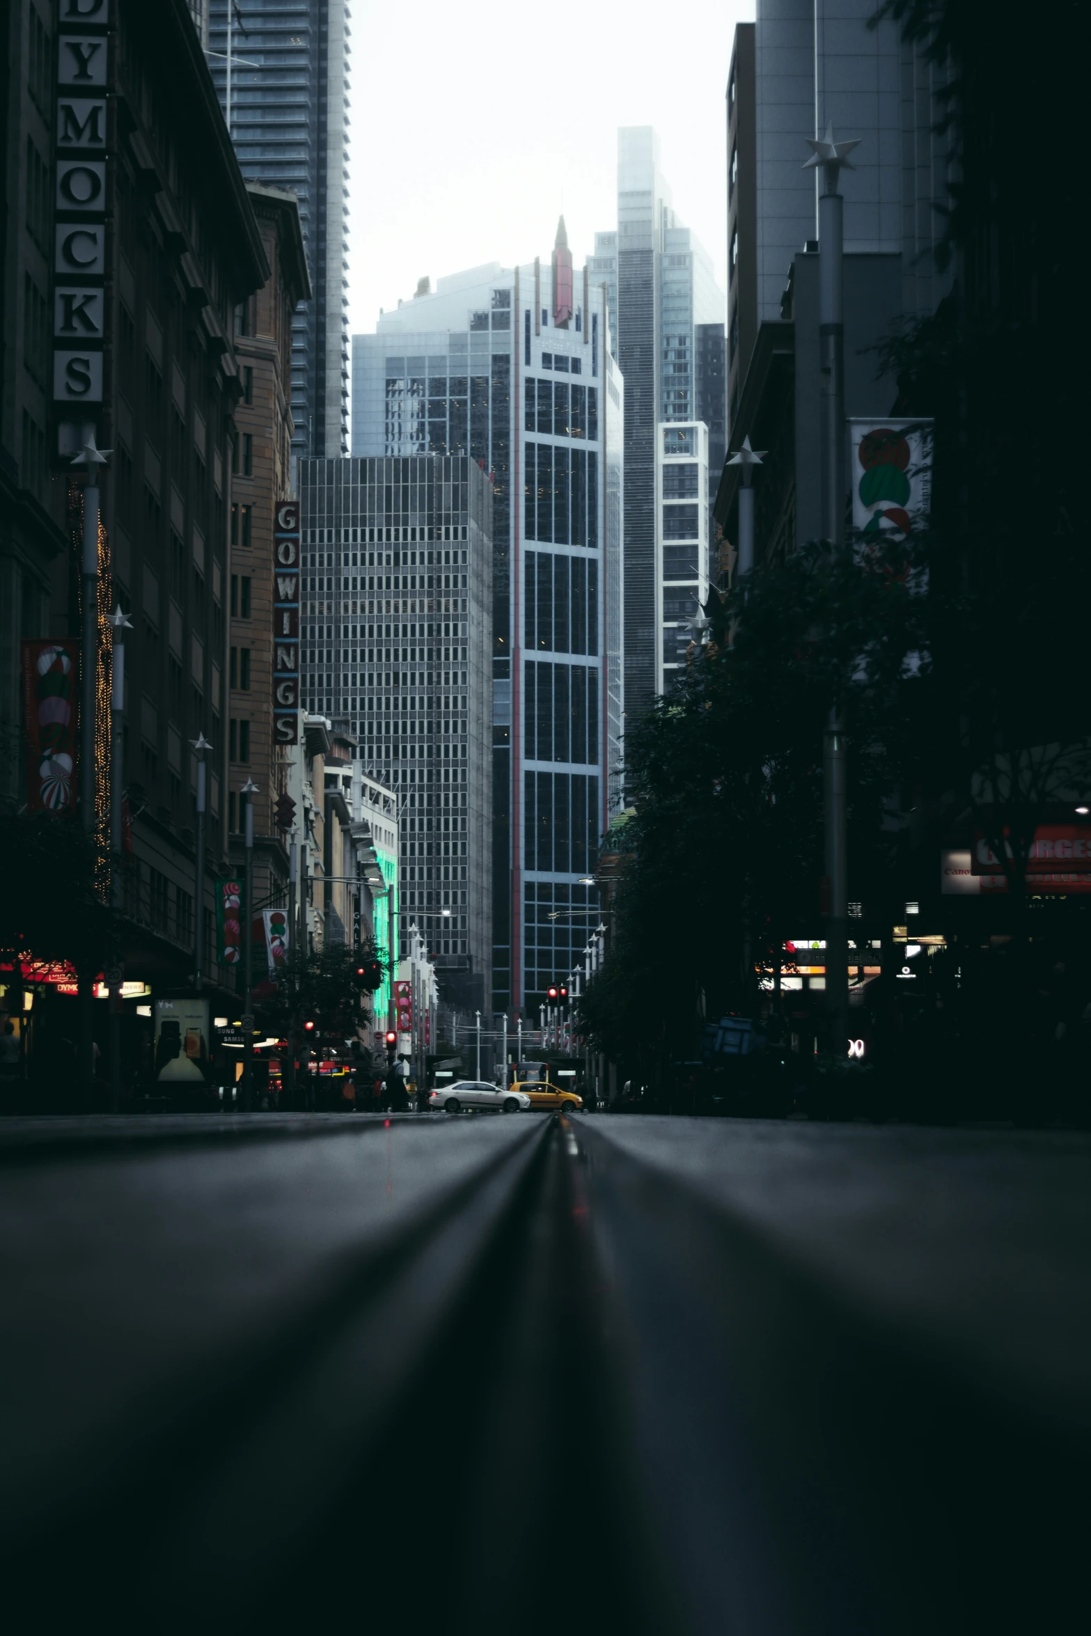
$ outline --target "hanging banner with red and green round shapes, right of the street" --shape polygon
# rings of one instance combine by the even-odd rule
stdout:
[[[852,527],[905,538],[927,527],[932,502],[931,420],[849,420]]]

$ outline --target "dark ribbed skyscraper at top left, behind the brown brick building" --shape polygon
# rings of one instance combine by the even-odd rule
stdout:
[[[293,319],[296,458],[348,452],[348,5],[204,0],[242,173],[299,198],[314,294]]]

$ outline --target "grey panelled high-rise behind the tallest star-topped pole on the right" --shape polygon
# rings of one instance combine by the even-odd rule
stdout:
[[[844,195],[844,396],[849,417],[887,417],[896,381],[875,348],[949,290],[936,247],[947,198],[942,72],[869,0],[759,0],[739,25],[728,82],[730,448],[765,450],[754,474],[756,556],[821,535],[818,429],[818,172],[806,137],[833,121],[859,137]],[[738,530],[739,468],[715,515]],[[847,501],[847,494],[846,494]]]

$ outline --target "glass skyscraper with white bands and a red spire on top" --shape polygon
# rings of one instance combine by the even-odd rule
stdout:
[[[422,281],[425,283],[425,281]],[[622,378],[604,296],[550,257],[476,267],[353,337],[353,455],[492,479],[492,1009],[532,1009],[599,918],[620,793]]]

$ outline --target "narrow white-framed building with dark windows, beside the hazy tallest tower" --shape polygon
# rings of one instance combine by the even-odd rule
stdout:
[[[708,600],[708,427],[662,424],[656,447],[656,692],[685,667]]]

